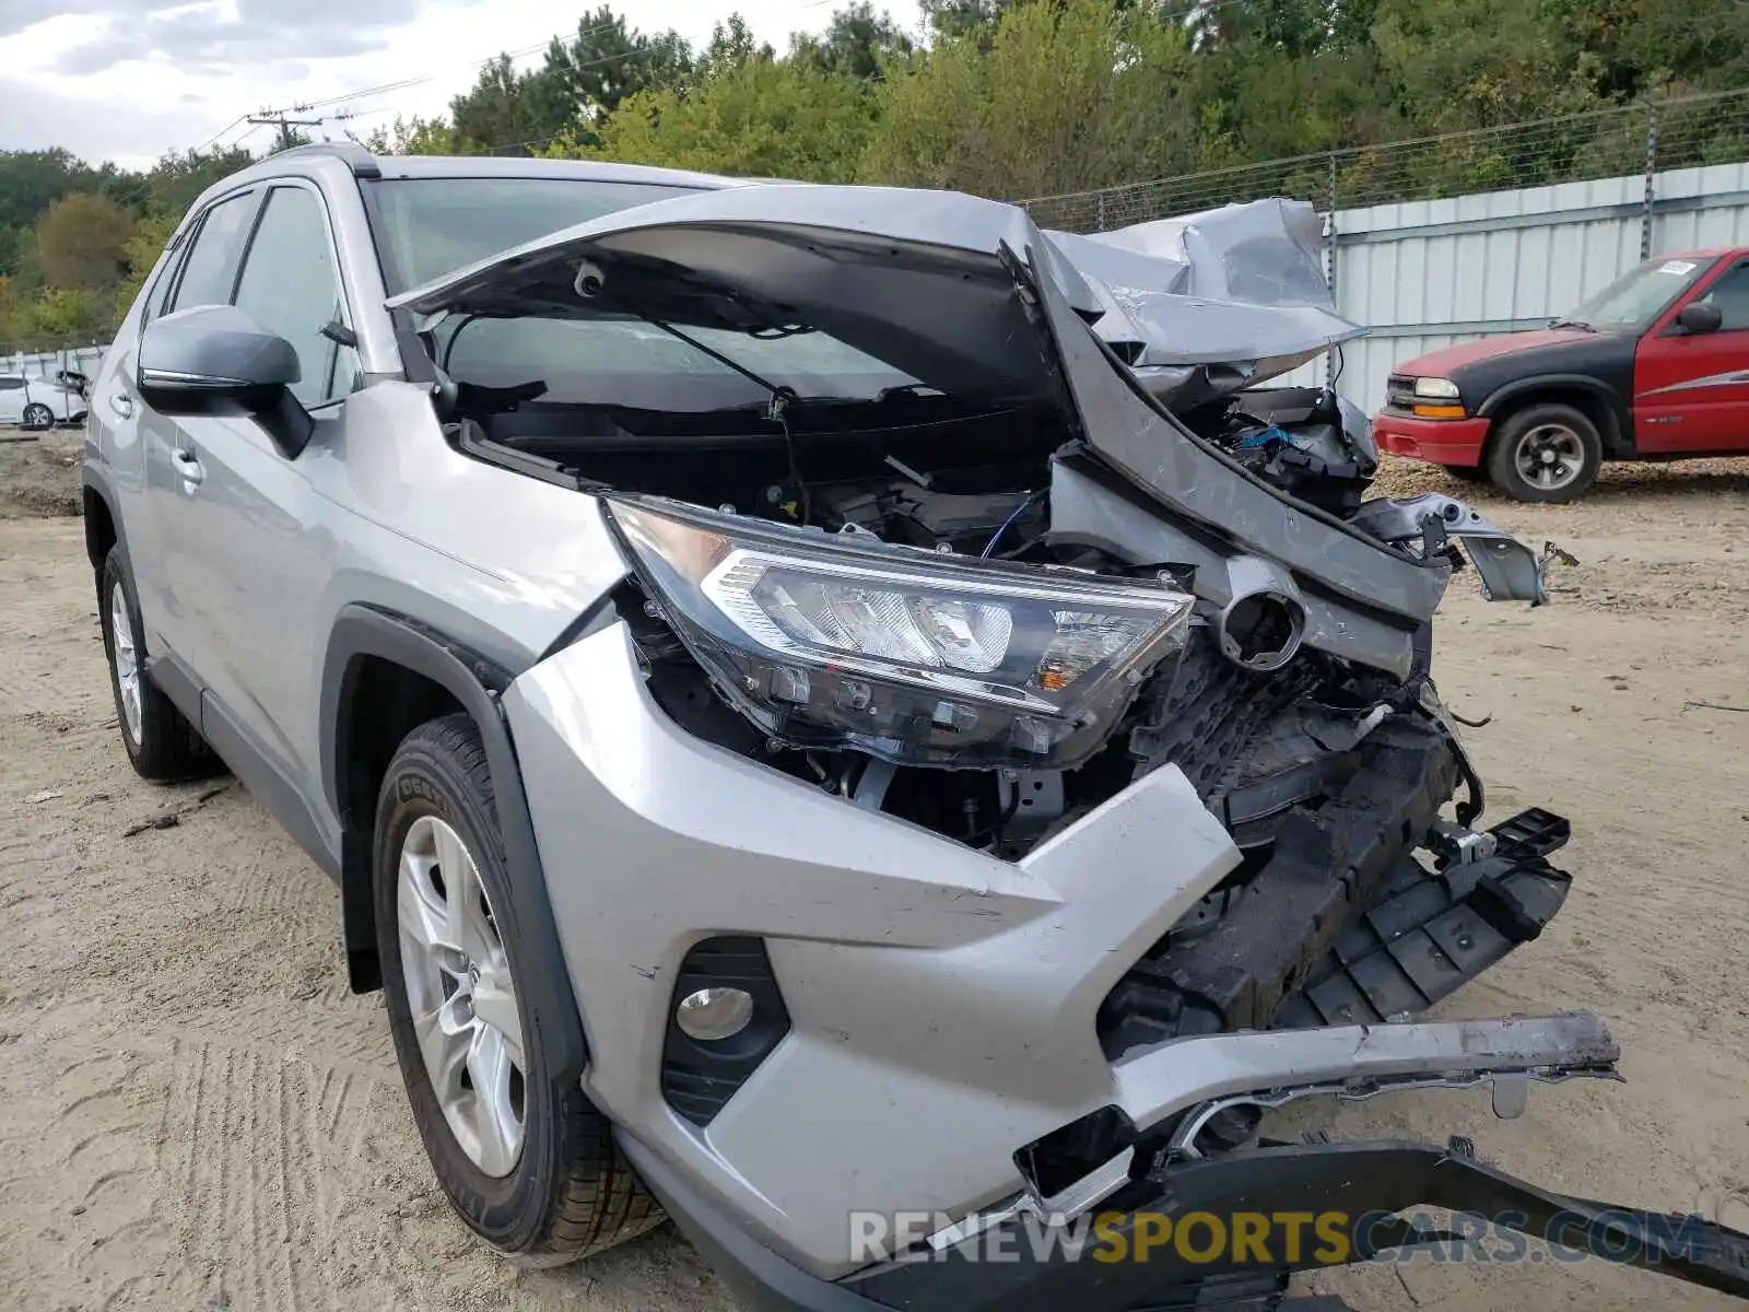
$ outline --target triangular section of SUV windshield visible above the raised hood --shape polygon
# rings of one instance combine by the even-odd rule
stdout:
[[[376,184],[388,294],[486,255],[691,187],[593,178],[395,178]]]

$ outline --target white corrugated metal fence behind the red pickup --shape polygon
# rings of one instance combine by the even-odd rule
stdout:
[[[1336,306],[1371,334],[1341,352],[1338,390],[1369,413],[1417,355],[1543,327],[1641,259],[1644,175],[1336,212]],[[1749,243],[1749,164],[1655,173],[1651,254]],[[1293,376],[1322,383],[1319,360]]]

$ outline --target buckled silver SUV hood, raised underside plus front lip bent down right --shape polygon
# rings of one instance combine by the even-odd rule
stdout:
[[[1149,268],[1140,252],[1109,250],[1107,271],[1123,261],[1137,282]],[[1195,280],[1196,261],[1188,262]],[[1154,264],[1160,285],[1179,285],[1182,268]],[[1397,625],[1432,616],[1445,569],[1266,486],[1144,399],[1090,332],[1112,299],[1095,285],[1111,287],[1077,271],[1016,206],[957,192],[796,184],[623,210],[390,304],[427,315],[623,306],[672,324],[743,331],[808,324],[934,387],[1051,401],[1163,514],[1193,532],[1383,607]]]

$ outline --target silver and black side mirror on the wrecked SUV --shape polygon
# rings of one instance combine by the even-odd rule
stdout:
[[[229,304],[154,318],[140,334],[140,399],[159,415],[252,415],[290,458],[315,422],[290,394],[297,350]]]

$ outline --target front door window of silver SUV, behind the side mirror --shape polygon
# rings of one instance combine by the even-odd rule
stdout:
[[[329,324],[345,322],[345,308],[322,201],[311,192],[303,187],[268,192],[268,208],[243,259],[236,308],[292,343],[303,373],[292,394],[306,406],[357,387],[357,355],[322,334]]]

